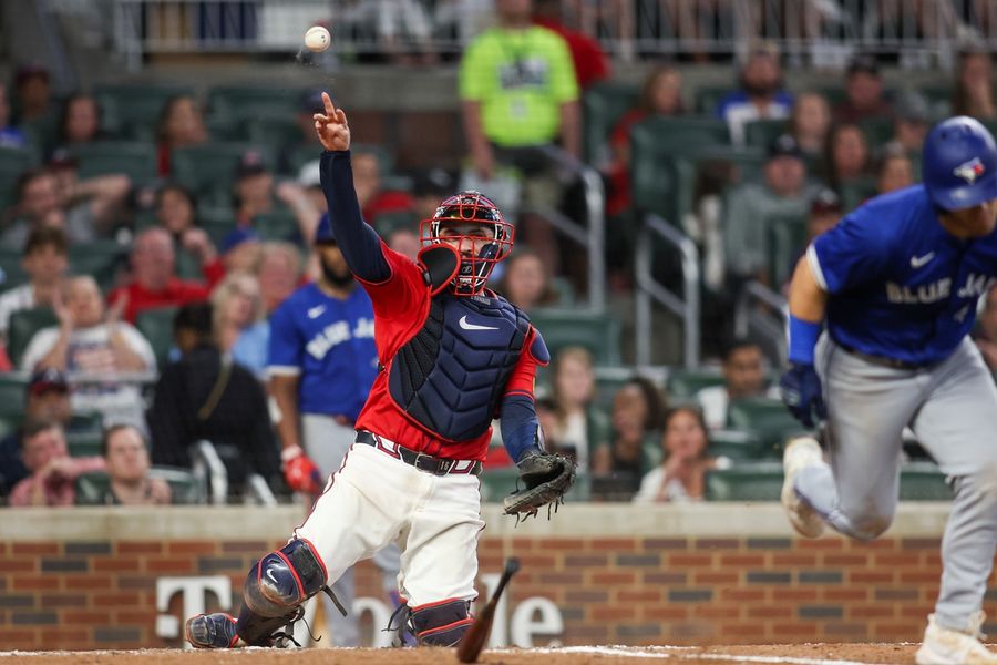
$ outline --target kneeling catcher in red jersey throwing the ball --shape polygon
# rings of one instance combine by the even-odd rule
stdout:
[[[370,295],[380,371],[357,419],[356,441],[288,544],[249,571],[238,618],[186,624],[197,647],[274,645],[300,604],[389,543],[401,549],[399,590],[419,644],[452,646],[472,623],[476,596],[481,460],[493,417],[525,490],[506,512],[559,501],[574,466],[543,449],[533,401],[549,355],[528,319],[484,288],[513,245],[491,201],[462,192],[422,223],[413,263],[368,226],[353,191],[350,130],[322,94],[316,132],[321,183],[337,245]]]

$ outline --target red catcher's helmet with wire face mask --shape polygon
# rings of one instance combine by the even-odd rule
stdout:
[[[498,207],[473,190],[444,198],[433,217],[422,221],[419,232],[423,247],[436,245],[441,238],[455,243],[461,265],[451,291],[456,296],[474,296],[484,289],[495,264],[512,252],[515,236],[515,227],[503,219]]]

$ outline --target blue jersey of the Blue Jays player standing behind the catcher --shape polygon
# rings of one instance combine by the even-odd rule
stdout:
[[[302,286],[270,317],[271,374],[298,374],[302,413],[356,420],[378,374],[373,306],[362,288],[346,300]]]

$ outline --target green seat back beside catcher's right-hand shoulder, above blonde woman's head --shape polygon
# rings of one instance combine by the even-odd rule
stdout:
[[[551,356],[568,346],[580,346],[592,354],[596,365],[620,364],[620,324],[607,314],[577,309],[542,308],[530,313]]]

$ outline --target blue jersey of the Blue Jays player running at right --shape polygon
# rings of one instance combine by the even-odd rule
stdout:
[[[859,351],[944,360],[976,318],[997,275],[997,233],[959,239],[942,228],[924,186],[873,198],[806,253],[830,295],[828,331]]]

